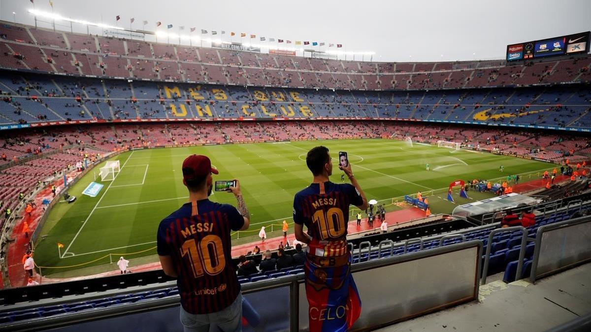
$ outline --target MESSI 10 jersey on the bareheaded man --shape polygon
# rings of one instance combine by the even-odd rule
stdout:
[[[353,185],[313,183],[294,197],[294,222],[305,224],[314,240],[346,239],[349,204],[363,204],[361,194]]]

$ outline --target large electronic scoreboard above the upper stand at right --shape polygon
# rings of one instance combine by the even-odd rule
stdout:
[[[590,32],[564,35],[527,43],[507,45],[506,60],[527,60],[531,58],[561,56],[589,52]]]

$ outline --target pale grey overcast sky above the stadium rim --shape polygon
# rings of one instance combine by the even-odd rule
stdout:
[[[64,17],[134,29],[150,22],[206,30],[246,32],[284,40],[343,44],[343,50],[374,51],[374,61],[450,61],[504,58],[506,44],[591,30],[591,0],[413,1],[129,1],[53,0]],[[33,24],[28,0],[0,0],[0,18]],[[35,9],[51,11],[48,0]],[[50,27],[48,24],[40,24]],[[62,27],[69,30],[69,27]],[[74,31],[86,28],[74,25]],[[91,31],[99,33],[99,30]],[[246,41],[248,38],[244,38]],[[238,41],[239,38],[235,38]],[[172,42],[172,40],[171,40]],[[177,41],[175,41],[177,42]],[[260,43],[260,42],[258,42]],[[476,55],[473,56],[473,53]],[[443,55],[443,56],[442,56]]]

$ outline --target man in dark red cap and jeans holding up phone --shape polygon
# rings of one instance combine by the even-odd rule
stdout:
[[[189,202],[166,217],[158,227],[157,250],[164,273],[177,278],[181,298],[180,320],[185,331],[240,331],[242,295],[232,265],[230,232],[246,230],[250,213],[240,184],[230,190],[238,208],[207,199],[213,174],[204,155],[183,162],[183,184]]]

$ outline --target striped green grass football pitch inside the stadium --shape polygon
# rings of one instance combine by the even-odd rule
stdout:
[[[190,154],[204,154],[220,171],[214,180],[241,181],[242,193],[251,211],[251,229],[233,235],[233,243],[252,242],[261,226],[292,223],[293,196],[311,182],[306,167],[306,152],[325,145],[333,156],[332,181],[340,183],[338,151],[348,151],[353,172],[368,199],[379,200],[389,210],[401,209],[393,197],[421,191],[429,198],[432,213],[450,213],[455,206],[444,200],[454,180],[493,179],[508,174],[524,174],[522,182],[552,165],[503,157],[488,153],[454,151],[415,143],[386,139],[354,139],[212,145],[207,147],[145,149],[118,155],[121,171],[114,181],[101,182],[98,168],[91,170],[69,193],[78,199],[73,204],[56,204],[44,224],[35,248],[35,262],[44,275],[56,275],[74,269],[109,263],[120,255],[156,261],[155,240],[158,223],[187,201],[182,183],[181,164]],[[426,164],[430,171],[426,171]],[[499,171],[499,165],[505,171]],[[95,174],[97,180],[95,180]],[[529,175],[533,174],[533,175]],[[102,183],[99,195],[82,195],[86,186]],[[484,198],[487,194],[469,192],[470,200],[454,195],[457,204]],[[485,196],[483,196],[485,195]],[[442,199],[443,198],[443,199]],[[211,200],[235,204],[229,193],[215,193]],[[397,201],[401,201],[398,199]],[[351,213],[350,219],[353,219]],[[275,230],[277,230],[275,228]],[[271,235],[272,236],[272,235]],[[276,235],[278,236],[278,234]],[[237,239],[240,237],[240,239]],[[64,248],[58,251],[57,243]],[[61,253],[61,257],[60,257]],[[113,265],[111,265],[112,268]],[[69,274],[72,275],[72,274]]]

